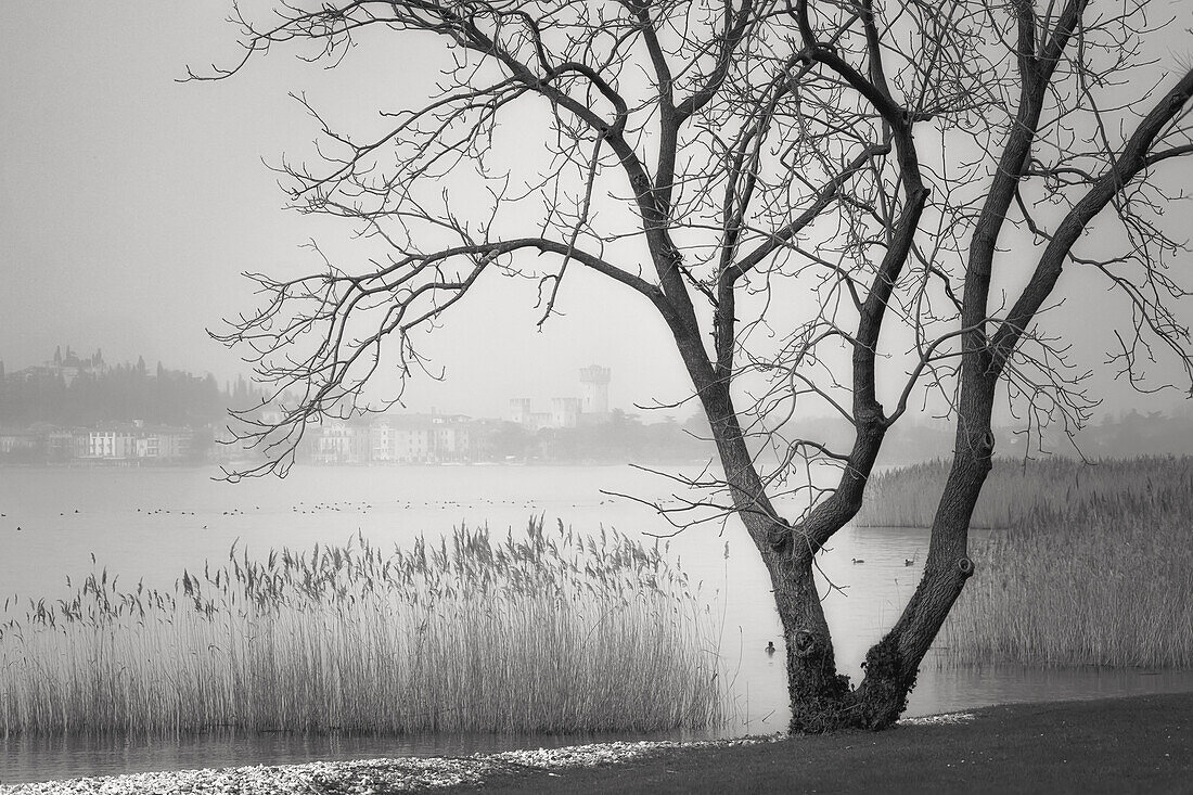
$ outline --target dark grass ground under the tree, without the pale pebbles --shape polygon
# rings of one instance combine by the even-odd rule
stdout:
[[[1012,704],[975,715],[963,725],[680,748],[449,791],[1193,794],[1193,692]]]

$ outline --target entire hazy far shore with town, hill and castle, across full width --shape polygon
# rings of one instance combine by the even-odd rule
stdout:
[[[703,418],[643,423],[610,405],[612,378],[610,368],[580,368],[571,388],[561,389],[571,395],[542,403],[512,398],[505,418],[432,411],[324,419],[308,425],[295,460],[350,466],[648,463],[715,456]],[[143,359],[110,365],[98,350],[82,356],[60,347],[43,364],[7,374],[0,360],[0,464],[252,464],[254,452],[233,443],[228,409],[262,402],[245,378],[221,388],[211,375],[199,377],[160,363],[149,368]],[[282,419],[270,406],[256,417],[267,424]],[[789,421],[784,436],[837,446],[852,438],[847,424],[826,418]],[[1024,455],[1022,433],[1002,429],[996,436],[1001,455]],[[1193,449],[1193,412],[1106,415],[1076,442],[1087,457],[1183,455]],[[947,456],[952,445],[948,424],[910,418],[892,430],[885,449],[889,463],[913,463]],[[1059,432],[1045,448],[1076,455]]]

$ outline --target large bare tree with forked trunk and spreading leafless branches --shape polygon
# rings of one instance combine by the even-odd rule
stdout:
[[[279,45],[334,66],[415,36],[452,67],[369,137],[309,107],[319,156],[282,166],[292,204],[383,255],[252,275],[264,303],[220,339],[298,396],[280,421],[245,415],[270,457],[235,476],[285,474],[307,424],[363,409],[378,368],[424,368],[415,332],[490,273],[537,283],[540,325],[569,273],[606,277],[666,322],[707,415],[719,467],[682,507],[740,517],[769,571],[792,731],[882,728],[905,708],[973,574],[996,398],[1032,429],[1088,415],[1044,322],[1062,272],[1105,273],[1130,308],[1113,352],[1127,377],[1161,355],[1189,374],[1167,270],[1182,247],[1160,216],[1164,166],[1193,153],[1193,72],[1149,60],[1145,0],[304,5],[237,8],[245,60],[192,76]],[[527,172],[505,122],[550,162]],[[956,418],[952,469],[922,580],[851,686],[816,554],[921,401]],[[852,443],[787,433],[797,406],[837,412]],[[802,507],[783,517],[780,499]]]

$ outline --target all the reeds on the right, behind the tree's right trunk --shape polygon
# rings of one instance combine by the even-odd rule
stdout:
[[[877,477],[870,520],[931,524],[945,474]],[[938,640],[944,659],[1193,667],[1193,460],[1000,461],[978,510],[1003,529],[971,544],[977,575]]]

